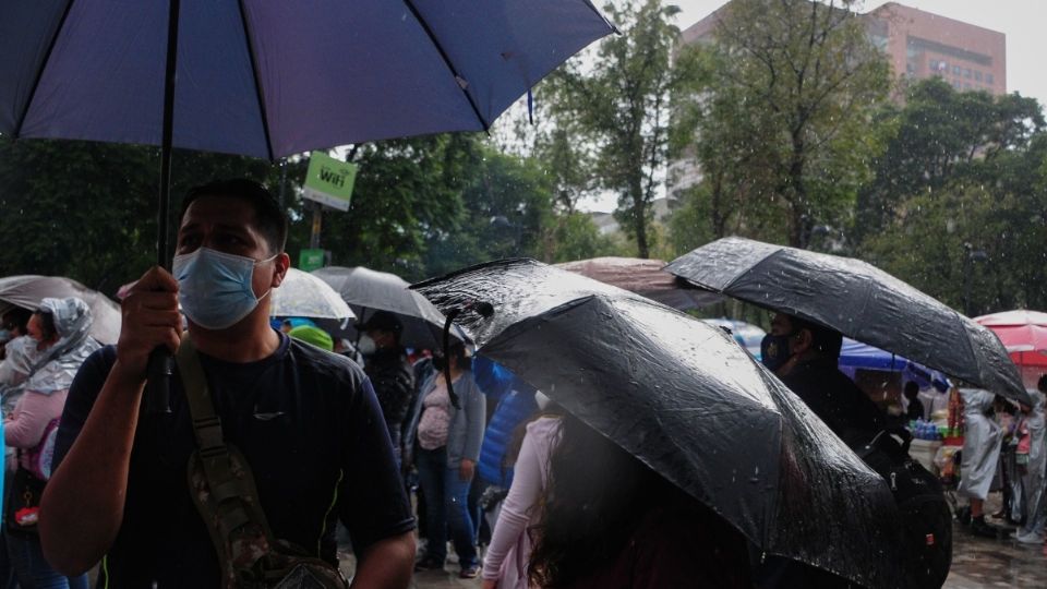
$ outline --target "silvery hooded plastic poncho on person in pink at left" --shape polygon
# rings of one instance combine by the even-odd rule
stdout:
[[[87,335],[92,323],[91,308],[82,299],[44,299],[39,310],[55,317],[58,341],[41,352],[24,388],[50,395],[69,388],[80,365],[101,346]]]

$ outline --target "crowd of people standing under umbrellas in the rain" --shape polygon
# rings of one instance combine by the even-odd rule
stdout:
[[[88,336],[75,298],[3,317],[0,575],[19,586],[84,587],[104,563],[106,587],[270,587],[294,575],[347,587],[336,522],[357,587],[444,569],[448,540],[459,575],[485,589],[853,586],[758,555],[709,507],[461,342],[408,350],[404,318],[384,311],[361,317],[356,341],[308,318],[274,321],[287,220],[260,184],[194,189],[179,219],[173,268],[128,289],[116,346]],[[857,447],[887,426],[838,370],[839,333],[785,314],[772,327],[765,364],[841,440]],[[177,371],[169,410],[152,413],[142,399],[156,348]],[[1044,480],[1037,398],[1023,410],[1038,421],[1020,429],[1033,438],[1027,490]],[[973,416],[968,426],[979,431]],[[974,497],[984,485],[963,489]],[[1026,505],[1043,505],[1036,493]],[[1042,539],[1042,510],[1022,533]]]

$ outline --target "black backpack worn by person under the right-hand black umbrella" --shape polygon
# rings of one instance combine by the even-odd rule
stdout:
[[[912,434],[884,430],[858,456],[887,481],[902,518],[903,568],[911,589],[938,589],[952,564],[952,512],[938,478],[908,455]]]

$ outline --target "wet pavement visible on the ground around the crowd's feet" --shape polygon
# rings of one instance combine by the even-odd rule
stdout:
[[[989,519],[990,522],[1000,522]],[[1001,528],[1004,529],[1004,528]],[[342,561],[351,570],[351,557]],[[454,555],[444,570],[417,573],[411,585],[417,589],[479,588],[480,579],[459,579]],[[1021,544],[1013,539],[991,540],[973,536],[959,524],[953,536],[952,569],[948,589],[1032,589],[1047,587],[1047,557],[1042,544]]]

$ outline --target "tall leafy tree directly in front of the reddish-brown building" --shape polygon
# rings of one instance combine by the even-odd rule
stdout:
[[[735,0],[722,12],[688,118],[713,235],[741,211],[739,232],[781,230],[805,248],[815,226],[846,220],[881,148],[869,129],[890,87],[854,3]]]

